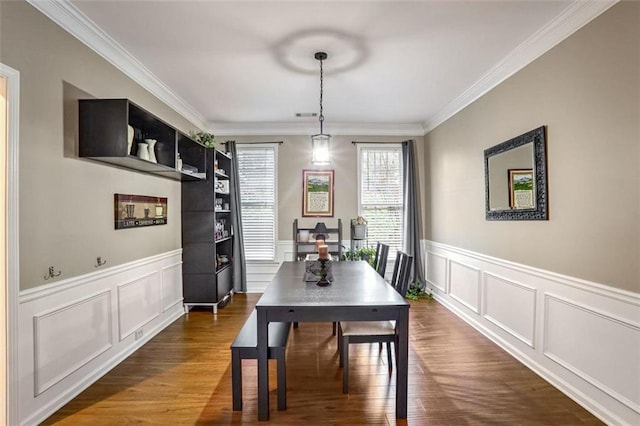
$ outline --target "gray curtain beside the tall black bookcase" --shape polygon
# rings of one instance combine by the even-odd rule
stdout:
[[[242,236],[242,215],[240,212],[240,177],[238,176],[238,152],[235,141],[227,141],[227,150],[231,154],[231,181],[234,183],[231,193],[231,211],[233,212],[233,289],[247,291],[247,262],[244,257],[244,239]]]

